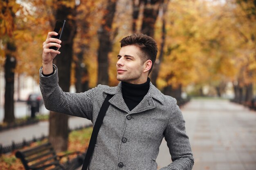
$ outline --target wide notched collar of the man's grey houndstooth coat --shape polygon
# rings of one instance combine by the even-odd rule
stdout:
[[[124,102],[121,82],[119,82],[118,86],[106,88],[104,90],[104,93],[114,95],[109,100],[110,104],[116,106],[121,110],[124,110],[127,113],[139,113],[145,110],[155,108],[153,99],[157,100],[161,104],[163,104],[164,101],[162,93],[151,82],[149,85],[148,93],[145,95],[144,99],[142,99],[142,101],[131,111]]]

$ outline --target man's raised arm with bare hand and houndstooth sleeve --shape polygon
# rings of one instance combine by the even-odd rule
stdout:
[[[56,32],[49,32],[43,43],[42,67],[40,68],[40,90],[43,95],[45,107],[48,110],[85,117],[92,119],[92,102],[96,90],[91,89],[85,93],[67,93],[63,92],[58,86],[58,69],[53,65],[53,59],[60,54],[58,49],[61,47],[61,41],[52,38],[52,35],[58,35]],[[57,46],[58,49],[49,49],[51,46]]]

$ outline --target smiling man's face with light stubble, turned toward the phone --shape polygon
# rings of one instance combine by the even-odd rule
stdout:
[[[141,50],[135,45],[123,46],[117,61],[117,79],[131,84],[145,83],[142,76],[144,64],[141,62]]]

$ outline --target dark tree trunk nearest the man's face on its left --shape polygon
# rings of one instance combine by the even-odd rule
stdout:
[[[108,53],[112,50],[110,33],[116,11],[116,0],[108,0],[108,6],[103,16],[103,24],[98,30],[98,84],[108,85]]]

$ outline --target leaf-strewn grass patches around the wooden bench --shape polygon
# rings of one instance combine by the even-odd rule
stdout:
[[[89,142],[90,142],[90,137],[92,134],[92,127],[84,128],[82,130],[74,130],[70,132],[69,137],[68,137],[68,149],[65,152],[59,152],[57,155],[63,155],[69,152],[74,152],[74,151],[80,151],[80,152],[85,152],[87,150]],[[46,143],[47,139],[43,141],[38,141],[32,143],[29,147],[34,147],[38,146],[42,143]],[[23,167],[20,159],[17,159],[15,157],[15,152],[11,152],[9,154],[2,154],[0,156],[0,169],[1,170],[25,170]],[[74,158],[74,156],[70,156],[70,159]],[[65,161],[66,159],[62,159],[62,161]]]

